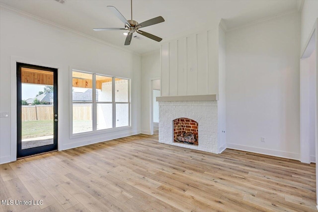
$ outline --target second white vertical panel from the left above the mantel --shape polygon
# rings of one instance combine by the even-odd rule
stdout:
[[[169,95],[176,96],[178,91],[178,46],[177,40],[169,44]]]

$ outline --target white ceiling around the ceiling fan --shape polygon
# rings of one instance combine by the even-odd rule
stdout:
[[[130,19],[130,0],[0,0],[2,4],[79,31],[140,54],[160,48],[160,43],[144,38],[124,46],[123,31],[95,32],[92,28],[124,27],[106,6],[115,6]],[[133,19],[139,23],[161,15],[165,22],[143,31],[169,40],[176,35],[195,33],[225,20],[227,28],[288,11],[296,11],[298,0],[133,0]],[[135,34],[134,34],[135,35]]]

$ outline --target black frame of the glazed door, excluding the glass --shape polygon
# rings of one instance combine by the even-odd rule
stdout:
[[[26,148],[22,149],[22,138],[21,138],[21,132],[22,132],[22,105],[21,101],[21,68],[29,68],[29,69],[35,69],[35,70],[41,70],[41,71],[51,71],[53,72],[53,86],[54,86],[54,105],[53,105],[53,114],[54,114],[54,119],[58,119],[58,69],[55,68],[49,68],[49,67],[43,67],[43,66],[38,66],[38,65],[30,65],[30,64],[25,64],[25,63],[19,63],[16,62],[16,123],[17,123],[17,148],[16,148],[16,155],[17,158],[20,157],[25,157],[25,156],[31,156],[34,154],[39,154],[39,153],[45,153],[48,151],[53,151],[58,149],[58,122],[53,121],[53,144],[48,144],[48,145],[43,145],[43,146],[38,146],[38,147],[32,147],[32,148]]]

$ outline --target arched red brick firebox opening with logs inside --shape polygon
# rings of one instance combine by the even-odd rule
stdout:
[[[198,123],[188,118],[173,120],[173,142],[198,145]]]

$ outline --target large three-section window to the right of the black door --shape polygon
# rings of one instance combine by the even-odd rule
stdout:
[[[73,70],[73,134],[130,126],[129,82]]]

